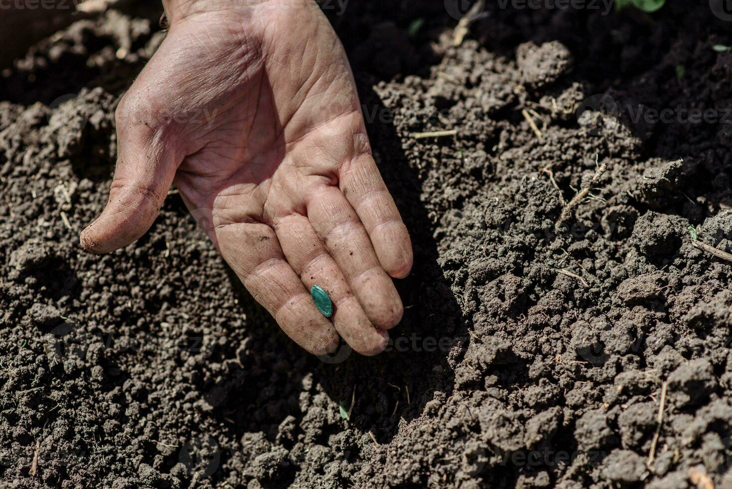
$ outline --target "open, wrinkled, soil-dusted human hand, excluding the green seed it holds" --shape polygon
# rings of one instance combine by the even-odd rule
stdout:
[[[297,343],[376,354],[403,306],[411,243],[370,152],[346,54],[315,2],[166,4],[168,37],[117,109],[92,253],[149,229],[171,184]],[[329,292],[325,318],[310,287]]]

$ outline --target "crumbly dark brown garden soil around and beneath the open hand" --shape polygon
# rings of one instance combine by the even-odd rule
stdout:
[[[370,359],[291,343],[174,193],[137,243],[79,247],[159,11],[5,72],[2,487],[732,487],[732,264],[687,229],[731,251],[732,23],[488,3],[459,48],[443,2],[328,10],[416,253]],[[578,111],[600,94],[617,119]]]

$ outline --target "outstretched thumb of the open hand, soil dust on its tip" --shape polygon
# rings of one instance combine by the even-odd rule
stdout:
[[[154,111],[130,112],[126,98],[116,111],[117,165],[109,200],[81,232],[81,246],[95,254],[127,246],[149,230],[179,164],[165,124],[154,123]]]

